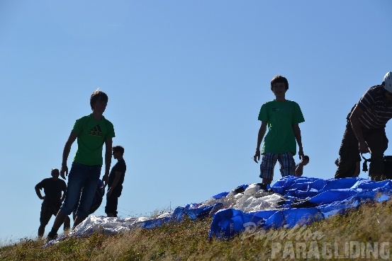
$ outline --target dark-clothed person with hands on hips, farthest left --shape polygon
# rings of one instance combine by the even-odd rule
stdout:
[[[67,185],[64,180],[59,179],[60,171],[57,168],[52,168],[52,178],[45,178],[37,185],[35,185],[35,193],[40,199],[43,199],[41,205],[40,214],[40,227],[38,228],[38,238],[43,237],[45,233],[45,226],[49,223],[50,218],[56,216],[57,212],[61,207],[61,203],[64,201],[65,192],[67,192]],[[41,195],[40,190],[43,189],[45,195]],[[64,221],[64,231],[69,231],[70,220]]]

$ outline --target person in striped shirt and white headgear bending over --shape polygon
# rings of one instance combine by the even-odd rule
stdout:
[[[361,161],[359,153],[370,152],[369,176],[383,180],[383,153],[388,148],[385,127],[391,119],[392,71],[388,71],[381,85],[370,87],[347,115],[335,178],[351,178],[353,166]]]

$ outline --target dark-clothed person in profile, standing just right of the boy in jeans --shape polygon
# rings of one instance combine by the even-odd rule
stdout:
[[[113,146],[113,158],[117,163],[111,169],[108,180],[108,192],[106,193],[105,213],[108,217],[117,216],[118,197],[123,190],[125,170],[127,166],[123,158],[124,148],[122,146]]]

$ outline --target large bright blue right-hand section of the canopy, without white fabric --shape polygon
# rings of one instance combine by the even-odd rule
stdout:
[[[221,209],[213,216],[208,237],[230,238],[245,231],[249,224],[260,229],[311,224],[369,200],[381,202],[389,199],[392,182],[375,182],[363,178],[323,180],[287,176],[278,180],[271,191],[286,199],[279,208],[249,213]]]

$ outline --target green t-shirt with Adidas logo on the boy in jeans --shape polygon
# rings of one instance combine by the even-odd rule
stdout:
[[[74,162],[89,166],[102,165],[105,139],[115,137],[113,124],[103,116],[101,120],[95,120],[91,114],[76,120],[72,132],[77,134]]]

